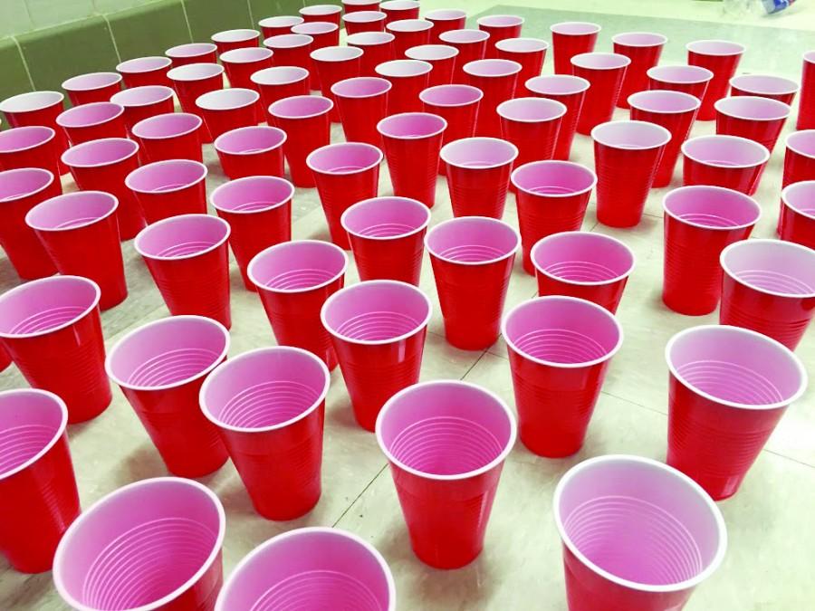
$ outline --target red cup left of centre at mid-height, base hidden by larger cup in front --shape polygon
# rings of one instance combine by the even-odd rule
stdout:
[[[230,233],[229,224],[217,216],[177,215],[150,224],[136,237],[136,252],[147,263],[170,314],[195,314],[226,329],[232,326],[226,250]]]

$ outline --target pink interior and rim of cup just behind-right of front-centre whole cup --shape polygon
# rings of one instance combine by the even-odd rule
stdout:
[[[524,301],[506,315],[502,330],[513,350],[551,367],[597,364],[622,343],[622,328],[609,310],[573,297]]]

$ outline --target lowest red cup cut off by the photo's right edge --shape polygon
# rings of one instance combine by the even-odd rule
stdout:
[[[753,329],[794,350],[815,314],[815,250],[743,240],[722,251],[719,324]]]

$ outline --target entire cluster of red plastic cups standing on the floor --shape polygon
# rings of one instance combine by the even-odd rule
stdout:
[[[623,341],[615,312],[634,255],[578,231],[591,192],[601,223],[636,225],[681,152],[686,186],[664,201],[663,298],[685,314],[721,299],[722,324],[666,346],[667,464],[580,463],[554,512],[572,611],[683,606],[724,557],[714,500],[738,490],[807,383],[792,350],[815,306],[815,53],[787,141],[784,241],[747,241],[751,195],[798,87],[734,76],[741,45],[690,43],[687,66],[657,66],[664,36],[618,34],[614,53],[594,53],[599,26],[556,24],[556,74],[541,76],[549,45],[522,38],[519,17],[470,30],[463,11],[418,19],[413,0],[343,5],[347,46],[340,7],[310,6],[264,19],[264,47],[254,30],[229,31],[66,81],[71,110],[46,91],[0,103],[14,126],[0,134],[0,243],[21,277],[40,279],[0,296],[0,348],[34,387],[0,393],[6,555],[23,571],[53,563],[61,596],[83,609],[393,609],[383,558],[341,530],[270,539],[222,588],[224,509],[182,478],[231,458],[258,513],[310,511],[339,365],[417,557],[471,562],[516,434],[542,456],[577,452]],[[617,105],[631,120],[609,120]],[[717,135],[687,139],[695,119],[714,118]],[[337,120],[348,141],[331,144]],[[576,132],[594,139],[596,175],[568,160]],[[210,196],[217,216],[201,163],[213,139],[232,179]],[[379,196],[383,158],[394,196]],[[60,195],[65,168],[82,191]],[[439,174],[455,218],[428,230]],[[333,243],[291,241],[294,186],[317,187]],[[508,191],[520,233],[501,220]],[[127,297],[120,240],[134,236],[174,316],[106,353],[100,309]],[[228,361],[227,244],[279,344]],[[503,315],[519,245],[539,297]],[[361,282],[344,287],[348,249]],[[418,382],[426,250],[447,341],[484,349],[503,336],[517,423],[484,388]],[[66,425],[101,414],[109,380],[178,477],[130,484],[77,519]]]

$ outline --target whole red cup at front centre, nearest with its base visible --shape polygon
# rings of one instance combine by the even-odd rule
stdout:
[[[490,391],[439,380],[405,388],[377,421],[410,546],[434,568],[459,568],[484,549],[515,418]]]

